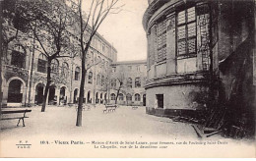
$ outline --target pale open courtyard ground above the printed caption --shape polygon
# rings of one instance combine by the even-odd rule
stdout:
[[[77,111],[75,107],[47,106],[44,113],[40,107],[32,107],[30,117],[25,120],[26,127],[16,127],[17,120],[3,121],[1,137],[27,137],[37,134],[57,134],[62,136],[111,136],[121,137],[168,137],[197,138],[197,134],[188,124],[171,122],[146,114],[145,107],[133,110],[121,106],[113,113],[104,114],[103,106],[97,105],[90,111],[83,111],[83,126],[76,127]],[[21,124],[22,125],[22,124]]]

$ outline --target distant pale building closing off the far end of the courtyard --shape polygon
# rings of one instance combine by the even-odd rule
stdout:
[[[109,103],[115,103],[117,93],[119,93],[117,104],[145,106],[146,60],[115,62],[110,67]]]

